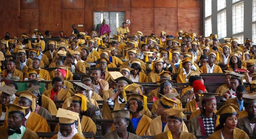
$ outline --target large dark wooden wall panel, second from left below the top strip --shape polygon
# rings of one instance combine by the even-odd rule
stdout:
[[[20,18],[18,18],[18,35],[27,33],[28,36],[33,34],[34,29],[39,29],[39,9],[21,9]],[[32,17],[32,18],[28,18]],[[44,32],[43,32],[44,33]]]

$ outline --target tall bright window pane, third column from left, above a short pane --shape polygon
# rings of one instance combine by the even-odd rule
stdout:
[[[233,5],[233,34],[244,31],[244,3]]]

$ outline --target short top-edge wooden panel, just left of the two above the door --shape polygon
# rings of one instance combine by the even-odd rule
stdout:
[[[85,0],[62,0],[62,9],[82,9],[85,7]]]

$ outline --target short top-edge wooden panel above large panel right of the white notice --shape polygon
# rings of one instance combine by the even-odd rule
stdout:
[[[154,0],[131,0],[131,8],[154,8]]]

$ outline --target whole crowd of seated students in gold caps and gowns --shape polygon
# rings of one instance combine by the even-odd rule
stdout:
[[[5,37],[0,41],[0,138],[39,138],[36,132],[51,132],[51,119],[58,119],[53,139],[101,135],[96,119],[113,120],[103,139],[256,135],[256,45],[249,39],[238,44],[238,38],[220,43],[215,34],[177,34],[137,31],[111,38],[92,31],[56,41],[43,39],[37,30],[36,38]],[[226,83],[210,93],[201,73],[223,73]],[[157,88],[145,94],[142,82]],[[175,82],[188,86],[177,91]],[[220,108],[216,96],[225,101]],[[62,101],[61,108],[54,101]]]

